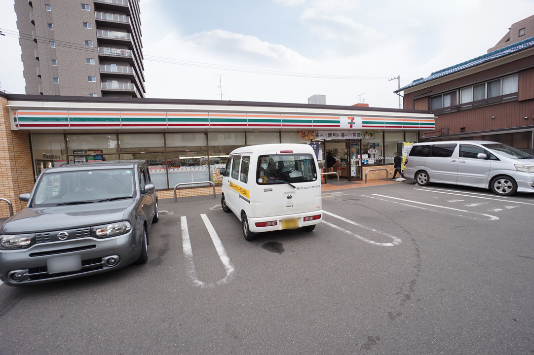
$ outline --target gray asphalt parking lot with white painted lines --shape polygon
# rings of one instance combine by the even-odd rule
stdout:
[[[161,200],[145,265],[0,285],[0,354],[534,353],[534,195],[347,189],[252,242],[219,203]]]

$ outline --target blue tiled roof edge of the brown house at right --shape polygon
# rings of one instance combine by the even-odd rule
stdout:
[[[434,72],[434,73],[430,74],[430,76],[428,76],[426,78],[416,79],[412,83],[404,86],[403,88],[395,90],[394,92],[403,91],[405,89],[411,88],[412,86],[419,85],[419,84],[422,84],[422,83],[426,83],[427,81],[431,81],[431,80],[437,79],[438,77],[442,77],[442,76],[445,76],[445,75],[456,73],[456,72],[459,72],[460,70],[471,68],[471,67],[477,66],[479,64],[483,64],[485,62],[488,62],[488,61],[491,61],[491,60],[494,60],[494,59],[497,59],[497,58],[505,57],[508,54],[519,52],[519,51],[522,51],[524,49],[530,48],[532,46],[534,46],[534,37],[527,38],[526,40],[523,40],[521,42],[517,42],[517,43],[511,44],[511,45],[508,45],[508,46],[506,46],[504,48],[498,49],[498,50],[493,51],[493,52],[486,53],[483,56],[467,60],[467,61],[462,62],[460,64],[453,65],[452,67],[445,68],[445,69],[442,69],[442,70],[438,70],[437,72]]]

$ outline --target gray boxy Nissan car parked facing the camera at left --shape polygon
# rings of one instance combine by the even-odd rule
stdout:
[[[30,285],[146,263],[154,188],[144,160],[45,170],[0,228],[0,280]]]

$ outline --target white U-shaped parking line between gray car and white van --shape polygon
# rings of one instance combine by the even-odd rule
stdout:
[[[226,276],[217,282],[203,282],[198,279],[197,270],[195,269],[195,263],[193,259],[193,248],[191,247],[191,239],[189,237],[189,228],[187,228],[187,218],[185,216],[182,216],[180,217],[180,225],[182,226],[182,247],[184,249],[187,277],[195,286],[221,286],[232,280],[235,269],[230,261],[230,258],[226,254],[226,250],[223,247],[221,239],[219,239],[217,232],[215,232],[215,228],[213,227],[213,225],[211,225],[211,222],[209,222],[208,217],[204,214],[200,216],[202,217],[202,220],[206,225],[209,235],[211,236],[211,241],[213,242],[215,249],[217,250],[217,254],[219,255],[219,258],[221,259],[221,262],[224,265],[224,269],[226,270]]]

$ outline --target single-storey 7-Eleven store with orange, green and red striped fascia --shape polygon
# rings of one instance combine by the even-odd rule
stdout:
[[[392,170],[403,141],[434,129],[427,111],[355,106],[2,92],[0,102],[0,197],[15,210],[22,208],[17,196],[32,189],[41,171],[61,164],[144,159],[160,198],[170,198],[178,183],[220,182],[218,169],[237,147],[318,143],[321,164],[332,152],[342,180],[351,182],[367,169]],[[0,216],[6,211],[2,204]]]

